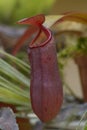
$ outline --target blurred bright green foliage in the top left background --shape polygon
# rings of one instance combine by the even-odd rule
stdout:
[[[46,14],[55,0],[0,0],[0,23],[14,24],[36,14]]]

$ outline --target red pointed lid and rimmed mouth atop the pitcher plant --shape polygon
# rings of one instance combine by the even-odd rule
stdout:
[[[35,17],[25,18],[17,22],[18,24],[28,24],[31,26],[31,29],[33,27],[36,28],[36,35],[34,39],[29,43],[29,48],[44,46],[51,40],[51,31],[43,26],[44,21],[44,15],[40,14]]]

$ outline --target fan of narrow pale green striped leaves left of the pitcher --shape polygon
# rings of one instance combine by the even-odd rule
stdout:
[[[22,69],[28,73],[30,66],[1,50],[0,54],[8,59],[5,61],[5,59],[0,58],[0,102],[20,106],[20,110],[26,107],[26,110],[30,111],[30,79],[21,71]]]

